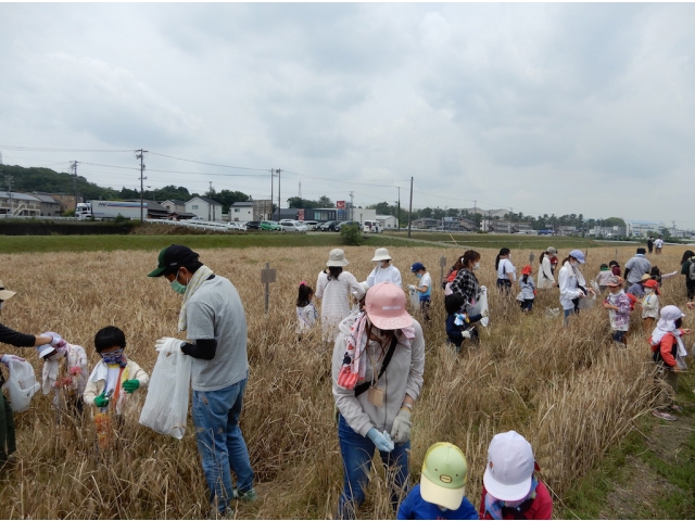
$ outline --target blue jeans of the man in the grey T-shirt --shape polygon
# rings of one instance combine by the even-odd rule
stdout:
[[[225,512],[232,499],[231,470],[240,493],[253,488],[249,449],[239,429],[239,415],[249,376],[219,391],[193,391],[195,441],[210,487],[210,503]]]

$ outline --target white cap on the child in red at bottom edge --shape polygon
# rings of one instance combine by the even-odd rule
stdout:
[[[516,431],[503,432],[490,442],[482,482],[493,497],[517,501],[529,494],[534,468],[531,444]]]

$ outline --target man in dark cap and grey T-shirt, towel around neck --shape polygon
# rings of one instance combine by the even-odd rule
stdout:
[[[232,498],[252,501],[253,470],[239,415],[249,378],[247,317],[233,284],[215,275],[188,246],[172,244],[160,252],[148,277],[164,277],[184,295],[179,331],[188,342],[160,339],[157,351],[172,346],[192,358],[193,423],[203,472],[215,514],[233,510]],[[180,346],[180,347],[179,347]],[[231,472],[237,475],[232,488]]]

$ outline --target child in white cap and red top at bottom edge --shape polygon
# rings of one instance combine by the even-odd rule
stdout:
[[[521,434],[496,434],[488,448],[480,518],[551,519],[553,499],[536,470],[533,448]]]

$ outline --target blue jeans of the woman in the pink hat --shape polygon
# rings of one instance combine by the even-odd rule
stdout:
[[[355,519],[355,507],[365,501],[365,490],[371,470],[375,445],[368,437],[356,433],[340,415],[338,440],[343,457],[343,493],[338,501],[338,519]],[[391,485],[391,506],[395,513],[400,500],[407,493],[408,452],[410,442],[396,444],[390,453],[379,450]]]

